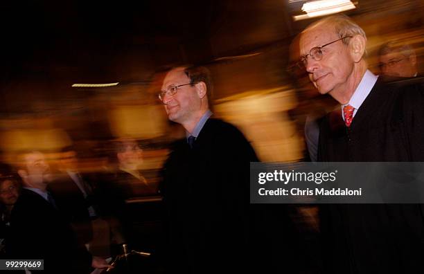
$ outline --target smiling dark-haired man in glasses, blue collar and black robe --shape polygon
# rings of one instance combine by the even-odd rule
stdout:
[[[258,158],[236,127],[212,118],[212,92],[209,70],[202,66],[171,69],[161,85],[159,99],[169,120],[186,130],[186,137],[172,145],[163,170],[166,267],[169,273],[268,273],[274,259],[281,265],[287,257],[273,257],[267,246],[267,235],[277,226],[262,219],[255,226],[254,210],[263,205],[249,204],[249,162]],[[263,213],[258,215],[270,214]],[[284,216],[280,211],[276,219]],[[290,250],[289,242],[283,250]]]

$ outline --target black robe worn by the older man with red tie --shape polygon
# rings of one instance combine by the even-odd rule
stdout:
[[[333,111],[321,123],[319,161],[424,161],[424,89],[378,80],[351,127]],[[325,273],[423,273],[423,206],[321,207]]]

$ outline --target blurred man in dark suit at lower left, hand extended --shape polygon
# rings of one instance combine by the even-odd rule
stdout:
[[[44,259],[44,273],[90,273],[108,267],[79,244],[71,223],[48,192],[51,170],[41,152],[24,152],[17,161],[23,189],[10,217],[10,255]]]

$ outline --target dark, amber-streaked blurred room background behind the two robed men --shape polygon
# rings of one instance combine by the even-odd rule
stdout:
[[[263,160],[297,161],[304,147],[299,115],[291,112],[303,103],[299,92],[310,87],[287,67],[297,58],[290,43],[316,19],[294,21],[304,2],[2,1],[0,130],[60,127],[85,143],[163,137],[168,123],[156,100],[155,72],[175,63],[205,64],[213,73],[215,113],[251,135]],[[407,39],[422,60],[423,1],[354,3],[346,14],[368,35],[374,72],[376,50],[390,39]],[[120,84],[71,87],[109,82]],[[268,130],[260,118],[279,122],[272,140],[256,136]],[[265,148],[272,142],[280,146],[273,155]]]

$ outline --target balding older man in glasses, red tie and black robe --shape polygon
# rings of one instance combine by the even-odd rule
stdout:
[[[424,161],[423,86],[384,84],[367,69],[364,30],[344,15],[301,33],[300,65],[341,106],[319,132],[319,161]],[[321,208],[324,273],[422,273],[423,209],[416,204]]]

